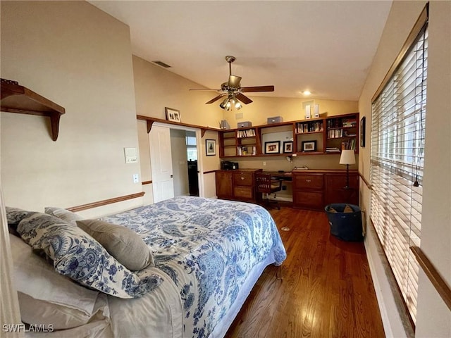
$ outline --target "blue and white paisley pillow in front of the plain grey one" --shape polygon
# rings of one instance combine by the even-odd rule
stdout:
[[[17,231],[33,249],[44,250],[58,273],[106,294],[135,298],[163,281],[149,269],[132,273],[89,234],[54,216],[33,213]]]

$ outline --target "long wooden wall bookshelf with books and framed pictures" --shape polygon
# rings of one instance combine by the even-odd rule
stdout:
[[[219,132],[220,156],[288,156],[359,152],[359,113]]]

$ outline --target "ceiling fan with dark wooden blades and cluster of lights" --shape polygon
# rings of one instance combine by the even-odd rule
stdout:
[[[228,75],[228,82],[224,82],[221,84],[221,89],[197,89],[193,88],[190,90],[212,90],[214,92],[219,92],[218,96],[215,96],[210,101],[206,102],[205,104],[212,104],[215,101],[218,101],[218,99],[221,99],[222,97],[226,96],[226,99],[224,99],[219,106],[226,111],[230,111],[231,108],[240,109],[242,107],[241,102],[243,104],[250,104],[252,102],[249,97],[245,96],[245,94],[242,93],[250,93],[250,92],[274,92],[274,86],[257,86],[257,87],[241,87],[240,81],[241,77],[232,75],[232,63],[235,61],[235,56],[226,56],[226,61],[228,62],[228,69],[229,69],[229,75]],[[241,102],[240,102],[241,101]]]

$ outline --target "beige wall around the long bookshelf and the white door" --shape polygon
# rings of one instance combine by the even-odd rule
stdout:
[[[223,111],[218,107],[218,103],[205,104],[216,94],[215,92],[189,91],[190,88],[199,88],[199,84],[175,75],[137,56],[133,56],[133,69],[137,113],[154,118],[166,118],[164,107],[168,106],[180,110],[182,121],[193,125],[216,127],[221,119],[228,120],[230,127],[233,128],[237,127],[237,123],[242,121],[251,121],[252,125],[265,125],[267,118],[278,115],[283,116],[283,121],[304,120],[305,113],[302,109],[302,103],[311,101],[307,99],[252,96],[254,102],[244,106],[240,111]],[[358,111],[357,101],[315,99],[314,102],[319,104],[321,116],[341,115]],[[148,144],[141,143],[147,142],[143,135],[145,123],[142,123],[142,125],[143,127],[138,130],[140,146],[147,149]],[[216,139],[216,156],[204,155],[205,139]],[[202,154],[203,172],[219,168],[217,132],[206,132],[202,139],[200,153]],[[142,177],[152,177],[149,172],[149,165],[146,164],[150,162],[148,151],[141,151],[141,155],[147,156],[141,158]],[[294,158],[293,163],[288,162],[285,156],[235,159],[240,163],[240,168],[264,168],[266,170],[291,170],[296,165],[307,165],[312,169],[344,169],[342,165],[338,164],[339,160],[339,155],[298,156]],[[264,165],[264,162],[266,165]],[[351,166],[351,168],[357,168],[357,165]],[[215,196],[214,174],[206,174],[204,180],[206,180],[204,196]]]

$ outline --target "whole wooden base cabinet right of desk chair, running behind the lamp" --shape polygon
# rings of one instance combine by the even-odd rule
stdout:
[[[345,170],[293,171],[293,206],[324,210],[333,203],[359,205],[359,174],[350,170],[350,186],[346,188]]]

